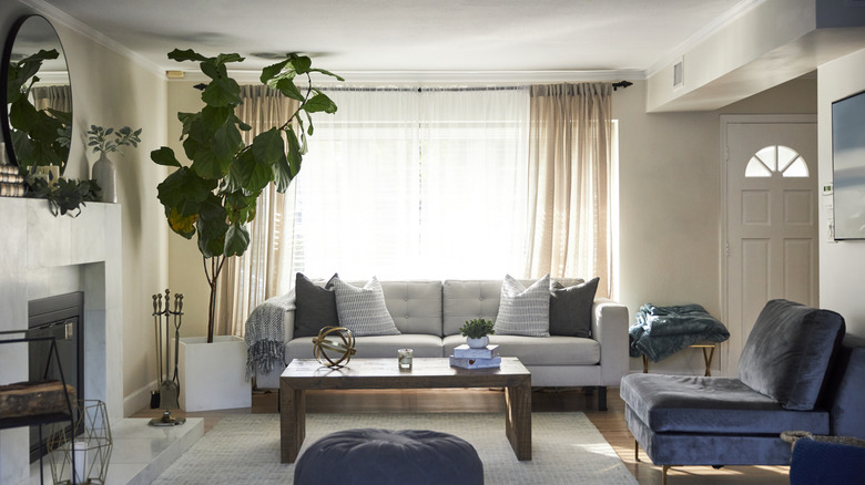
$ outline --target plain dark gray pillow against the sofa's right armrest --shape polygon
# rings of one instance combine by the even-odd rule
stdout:
[[[553,281],[550,290],[550,334],[561,337],[592,336],[592,305],[599,278],[563,288]]]

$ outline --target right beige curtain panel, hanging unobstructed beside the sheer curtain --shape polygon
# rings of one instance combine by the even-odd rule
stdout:
[[[610,83],[531,87],[529,127],[530,277],[611,281]],[[606,293],[606,295],[604,295]]]

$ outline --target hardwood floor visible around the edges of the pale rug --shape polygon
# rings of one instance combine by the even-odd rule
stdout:
[[[254,392],[252,407],[196,413],[175,411],[172,414],[204,417],[206,432],[228,414],[275,413],[276,396],[276,392]],[[581,389],[540,388],[532,392],[533,413],[586,413],[641,485],[661,485],[660,466],[652,465],[642,451],[640,457],[643,461],[634,461],[633,436],[624,423],[624,403],[619,398],[618,388],[608,389],[607,405],[607,411],[598,411],[597,398],[587,395]],[[309,391],[306,406],[308,412],[314,413],[489,413],[503,412],[505,398],[501,390],[489,389]],[[159,410],[145,410],[134,417],[159,415]],[[539,438],[535,436],[535,440]],[[682,466],[671,468],[668,476],[669,485],[790,483],[786,466],[730,466],[721,469]]]

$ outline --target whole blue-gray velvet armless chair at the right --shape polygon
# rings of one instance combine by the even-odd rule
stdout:
[[[655,465],[788,465],[785,431],[865,438],[865,348],[844,319],[786,300],[766,303],[739,378],[631,374],[628,427]]]

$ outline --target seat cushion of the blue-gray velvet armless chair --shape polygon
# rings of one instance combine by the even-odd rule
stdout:
[[[664,374],[622,378],[620,394],[657,433],[773,434],[804,430],[827,434],[826,411],[790,411],[737,379]]]

